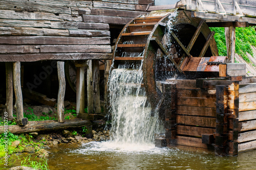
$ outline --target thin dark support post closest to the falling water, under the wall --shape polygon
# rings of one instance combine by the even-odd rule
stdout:
[[[104,70],[104,113],[108,114],[109,110],[109,100],[108,100],[108,81],[110,76],[111,60],[105,60],[105,70]]]

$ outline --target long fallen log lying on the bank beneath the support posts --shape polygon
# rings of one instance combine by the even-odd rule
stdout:
[[[58,129],[78,128],[83,126],[90,126],[90,120],[70,119],[65,123],[58,123],[57,120],[42,120],[42,121],[29,121],[25,126],[11,125],[8,130],[13,134],[30,133],[39,131],[52,131]],[[0,127],[0,134],[4,133],[4,126]]]

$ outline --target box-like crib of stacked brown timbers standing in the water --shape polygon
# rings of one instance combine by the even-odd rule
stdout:
[[[169,93],[164,94],[166,144],[214,149],[221,156],[255,149],[255,80],[166,80],[162,84],[163,94]]]

